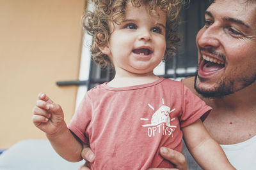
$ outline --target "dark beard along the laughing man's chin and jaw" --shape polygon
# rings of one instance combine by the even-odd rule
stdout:
[[[239,90],[244,89],[245,87],[248,87],[256,80],[256,74],[250,76],[250,77],[243,77],[239,78],[240,80],[231,79],[231,78],[225,78],[224,80],[218,81],[216,87],[214,89],[202,89],[196,87],[196,80],[198,78],[198,73],[196,71],[195,76],[195,83],[194,88],[198,94],[201,94],[203,97],[224,97],[230,94],[233,94],[234,92],[237,92]],[[239,87],[236,87],[237,83],[241,83]]]

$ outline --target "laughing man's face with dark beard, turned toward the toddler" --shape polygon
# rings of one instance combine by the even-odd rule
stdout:
[[[216,0],[205,11],[196,36],[195,89],[204,97],[223,97],[255,83],[256,3]]]

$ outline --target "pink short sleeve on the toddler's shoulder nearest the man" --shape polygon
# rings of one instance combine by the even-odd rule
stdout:
[[[205,113],[209,113],[212,108],[207,106],[202,99],[193,94],[191,90],[183,85],[182,95],[182,115],[180,117],[180,127],[186,127],[193,124]]]

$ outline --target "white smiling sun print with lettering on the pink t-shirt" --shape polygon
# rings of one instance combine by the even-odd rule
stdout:
[[[161,106],[158,110],[155,111],[155,108],[148,103],[148,106],[155,111],[152,115],[150,124],[144,124],[143,127],[147,127],[148,136],[155,136],[156,133],[163,135],[173,135],[173,132],[177,128],[176,125],[171,125],[171,122],[175,120],[175,118],[170,119],[170,113],[175,111],[175,108],[171,110],[170,107],[164,105],[164,99],[162,99],[163,106]],[[148,118],[140,118],[140,120],[148,121]]]

